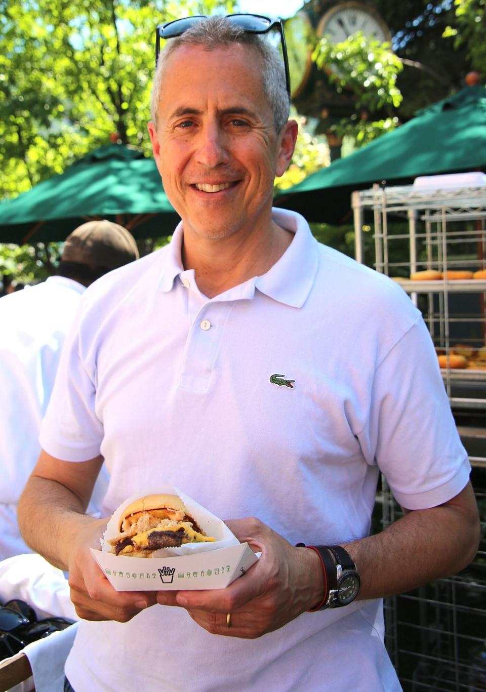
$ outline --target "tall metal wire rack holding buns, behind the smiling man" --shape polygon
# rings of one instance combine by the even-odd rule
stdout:
[[[467,356],[467,369],[454,370],[447,361],[442,376],[473,467],[482,518],[480,549],[467,570],[386,599],[386,646],[405,692],[485,692],[486,280],[448,277],[450,271],[486,268],[486,185],[434,190],[375,185],[354,192],[352,203],[356,259],[370,259],[363,221],[372,214],[374,257],[367,264],[395,278],[410,295],[438,354],[462,349]],[[445,278],[410,279],[424,269]],[[402,514],[384,478],[375,513],[382,527]]]

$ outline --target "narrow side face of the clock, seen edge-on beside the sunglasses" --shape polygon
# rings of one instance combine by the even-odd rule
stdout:
[[[312,69],[312,24],[307,14],[299,10],[294,17],[285,20],[284,29],[294,97],[302,93]]]

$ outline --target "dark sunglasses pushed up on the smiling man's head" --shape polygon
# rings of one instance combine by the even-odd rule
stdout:
[[[195,15],[194,17],[184,17],[183,19],[166,21],[165,24],[157,26],[155,30],[155,64],[157,64],[161,52],[161,39],[174,39],[177,36],[181,36],[185,31],[197,24],[197,22],[203,21],[204,19],[208,19],[207,15]],[[287,84],[287,93],[290,98],[289,59],[287,57],[287,45],[285,44],[282,19],[278,19],[278,17],[264,17],[263,15],[226,15],[226,19],[229,19],[229,21],[249,34],[266,34],[274,26],[278,28],[280,42],[282,43],[285,83]]]

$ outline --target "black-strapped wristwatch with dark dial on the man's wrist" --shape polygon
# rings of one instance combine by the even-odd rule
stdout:
[[[357,597],[361,581],[356,565],[352,561],[350,554],[341,545],[305,545],[297,543],[296,547],[307,547],[314,550],[321,558],[325,579],[325,597],[316,610],[326,608],[341,608],[348,605]],[[336,560],[332,560],[331,554]]]

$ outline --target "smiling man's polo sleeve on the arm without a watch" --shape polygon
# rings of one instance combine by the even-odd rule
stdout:
[[[39,442],[48,454],[67,462],[97,457],[103,437],[102,423],[95,412],[96,374],[82,360],[81,325],[82,311],[79,311],[64,343],[39,435]]]

